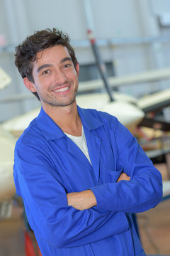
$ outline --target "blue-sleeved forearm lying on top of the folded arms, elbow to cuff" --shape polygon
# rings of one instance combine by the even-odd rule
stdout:
[[[91,188],[98,209],[138,213],[153,208],[162,199],[162,186],[149,174],[130,181],[105,183]]]

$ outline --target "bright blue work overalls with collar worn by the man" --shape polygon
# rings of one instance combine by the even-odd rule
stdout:
[[[162,199],[162,176],[115,117],[78,107],[91,164],[43,110],[18,139],[14,180],[43,256],[145,255],[130,213]],[[116,183],[124,171],[130,181]],[[91,189],[77,210],[66,193]]]

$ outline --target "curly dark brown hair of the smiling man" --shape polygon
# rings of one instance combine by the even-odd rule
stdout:
[[[62,33],[62,31],[56,28],[36,31],[32,36],[28,36],[22,44],[16,46],[15,51],[15,65],[22,78],[28,78],[30,82],[34,82],[32,72],[33,62],[37,60],[36,55],[40,50],[45,50],[52,46],[65,46],[72,58],[74,67],[76,67],[78,63],[77,58],[74,48],[72,48],[69,42],[70,39],[67,33]],[[37,92],[33,92],[33,94],[40,100]]]

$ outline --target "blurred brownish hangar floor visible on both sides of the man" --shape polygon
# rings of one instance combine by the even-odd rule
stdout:
[[[159,166],[166,180],[166,169]],[[148,255],[170,255],[170,200],[137,214],[142,245]],[[22,208],[13,206],[12,217],[0,221],[0,256],[26,256]],[[87,255],[88,256],[88,255]]]

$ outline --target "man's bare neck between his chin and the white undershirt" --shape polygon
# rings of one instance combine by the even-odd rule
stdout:
[[[45,107],[43,110],[62,129],[63,132],[74,136],[81,136],[81,119],[77,110],[77,102],[66,107]]]

